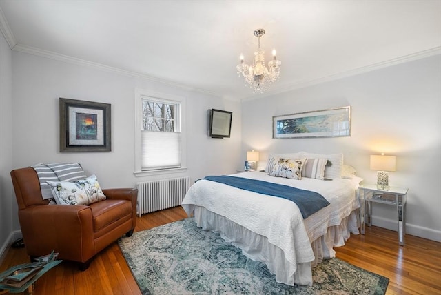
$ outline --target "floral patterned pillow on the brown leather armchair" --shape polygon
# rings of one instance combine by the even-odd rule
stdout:
[[[78,181],[46,181],[58,205],[89,205],[105,200],[96,176]]]

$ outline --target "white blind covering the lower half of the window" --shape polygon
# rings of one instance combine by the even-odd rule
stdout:
[[[141,132],[143,170],[181,167],[181,132]]]

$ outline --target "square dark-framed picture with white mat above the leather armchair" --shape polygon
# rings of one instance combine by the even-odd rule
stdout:
[[[110,152],[110,104],[59,99],[60,152]]]

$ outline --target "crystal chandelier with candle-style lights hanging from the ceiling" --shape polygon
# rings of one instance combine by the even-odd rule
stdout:
[[[269,61],[268,68],[265,66],[265,51],[260,49],[260,37],[265,34],[265,30],[257,29],[254,36],[258,38],[258,50],[254,52],[253,65],[249,66],[243,62],[243,54],[240,54],[240,64],[237,65],[238,75],[245,77],[253,93],[264,92],[269,85],[278,79],[280,74],[281,61],[276,59],[276,50],[273,50],[273,60]]]

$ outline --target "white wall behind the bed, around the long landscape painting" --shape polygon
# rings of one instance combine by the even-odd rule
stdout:
[[[350,137],[272,139],[272,116],[347,105],[352,107]],[[389,184],[409,187],[407,233],[441,241],[440,55],[244,101],[242,109],[242,155],[250,149],[264,158],[265,152],[343,152],[365,183],[376,183],[370,154],[398,156]],[[392,206],[374,205],[374,225],[396,230],[394,218]]]

